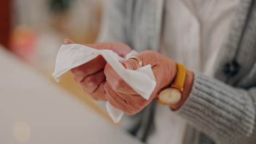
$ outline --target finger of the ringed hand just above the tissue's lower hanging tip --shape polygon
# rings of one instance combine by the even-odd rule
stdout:
[[[106,92],[106,98],[110,104],[113,104],[114,107],[117,107],[120,110],[126,110],[127,102],[119,97],[119,95],[109,87],[108,82],[104,84],[104,89]]]

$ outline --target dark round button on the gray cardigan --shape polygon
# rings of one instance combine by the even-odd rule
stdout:
[[[234,60],[224,65],[224,74],[228,76],[235,76],[238,73],[239,64]]]

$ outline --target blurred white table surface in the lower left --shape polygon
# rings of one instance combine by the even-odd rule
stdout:
[[[0,46],[0,143],[140,143]]]

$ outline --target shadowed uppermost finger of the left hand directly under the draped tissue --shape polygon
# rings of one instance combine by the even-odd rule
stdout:
[[[92,59],[88,63],[80,65],[79,67],[71,69],[71,72],[74,74],[74,79],[78,82],[82,82],[86,76],[97,73],[100,70],[103,70],[106,61],[102,56],[98,56],[95,59]]]

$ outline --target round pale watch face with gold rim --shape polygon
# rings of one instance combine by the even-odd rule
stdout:
[[[166,88],[159,94],[160,103],[164,103],[166,105],[173,105],[181,100],[181,92],[175,88]]]

